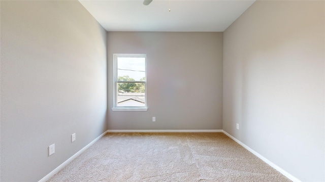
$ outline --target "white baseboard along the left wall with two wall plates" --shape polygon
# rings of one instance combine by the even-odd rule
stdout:
[[[58,171],[60,171],[64,166],[66,166],[67,164],[69,164],[72,160],[74,160],[76,157],[78,157],[86,149],[88,149],[90,146],[92,146],[92,144],[94,144],[95,142],[97,142],[98,140],[100,140],[106,133],[107,133],[107,131],[105,131],[104,133],[102,133],[95,140],[91,141],[88,145],[86,145],[84,148],[82,148],[80,151],[78,151],[75,155],[73,155],[72,157],[70,157],[68,160],[64,161],[61,165],[59,165],[57,168],[55,168],[52,172],[50,172],[45,177],[43,177],[41,180],[39,180],[39,182],[45,182],[45,181],[47,181],[54,174],[56,174]]]

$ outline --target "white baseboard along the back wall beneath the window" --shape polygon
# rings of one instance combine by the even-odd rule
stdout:
[[[109,129],[107,132],[223,132],[222,129]]]

